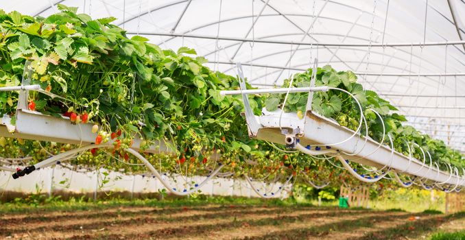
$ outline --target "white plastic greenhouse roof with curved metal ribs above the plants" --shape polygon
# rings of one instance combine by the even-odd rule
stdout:
[[[163,48],[192,47],[212,69],[234,75],[241,62],[262,88],[314,58],[354,71],[416,128],[465,152],[464,0],[16,0],[0,8],[48,16],[57,3],[115,16],[128,34]]]

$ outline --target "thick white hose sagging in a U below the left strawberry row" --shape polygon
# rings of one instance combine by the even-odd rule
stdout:
[[[200,184],[196,184],[197,186],[194,187],[193,189],[189,189],[189,190],[184,189],[182,192],[179,192],[179,191],[176,191],[176,189],[171,188],[171,186],[168,184],[168,182],[165,182],[165,180],[162,178],[160,173],[158,173],[158,171],[156,171],[154,166],[147,159],[145,159],[141,154],[139,154],[139,152],[137,152],[136,150],[134,150],[132,148],[126,149],[126,152],[134,155],[136,158],[139,158],[139,160],[141,160],[143,163],[145,163],[145,165],[147,165],[148,169],[150,169],[150,171],[152,171],[154,176],[156,178],[158,178],[158,180],[160,180],[160,182],[163,184],[163,186],[165,186],[165,188],[168,191],[170,191],[171,193],[173,193],[175,195],[180,195],[180,196],[190,195],[191,193],[195,193],[204,184],[206,184],[206,182],[208,182],[208,180],[211,180],[211,178],[213,178],[219,172],[219,170],[221,170],[225,166],[225,165],[219,166],[215,171],[213,171],[213,173],[211,173],[211,175],[207,176],[207,178],[203,182],[200,182]]]

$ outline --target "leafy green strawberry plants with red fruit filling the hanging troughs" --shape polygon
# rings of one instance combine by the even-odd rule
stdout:
[[[29,61],[32,84],[39,84],[47,92],[63,98],[51,99],[32,92],[29,110],[66,116],[75,124],[95,124],[92,132],[98,133],[96,145],[110,139],[115,141],[114,149],[110,150],[114,154],[91,149],[73,158],[71,164],[143,172],[145,167],[117,161],[136,163],[123,149],[132,145],[134,136],[139,136],[143,139],[142,148],[156,141],[176,145],[176,156],[146,156],[163,172],[174,172],[179,165],[189,165],[192,174],[206,175],[219,162],[225,163],[225,169],[233,171],[236,177],[248,174],[251,178],[275,180],[278,175],[299,176],[305,169],[309,176],[337,176],[339,180],[350,181],[343,171],[327,161],[300,153],[285,154],[268,143],[250,139],[240,115],[241,96],[219,95],[219,91],[239,88],[237,77],[204,67],[206,60],[196,56],[194,49],[160,49],[142,36],[128,38],[124,29],[112,24],[115,18],[91,19],[86,14],[78,14],[77,8],[60,4],[57,7],[60,12],[47,18],[0,10],[0,86],[19,86]],[[293,86],[309,86],[310,76],[311,70],[295,75]],[[383,123],[376,111],[383,118],[385,133],[393,137],[398,152],[408,155],[406,140],[429,150],[442,169],[446,169],[447,163],[464,166],[460,152],[403,125],[405,117],[392,112],[396,108],[374,91],[363,90],[354,73],[325,66],[318,68],[316,76],[316,86],[338,87],[355,95],[363,107],[372,139],[383,139]],[[283,87],[289,84],[290,80],[285,80]],[[296,112],[301,119],[305,117],[307,96],[307,93],[289,95],[285,112]],[[249,100],[255,115],[261,115],[263,107],[270,111],[280,108],[283,98],[284,95],[252,95]],[[16,92],[1,93],[0,115],[14,117],[17,100]],[[357,129],[359,112],[355,101],[346,93],[315,93],[312,108],[340,125]],[[364,134],[365,130],[361,132]],[[384,139],[388,143],[388,138]],[[56,154],[73,148],[5,138],[0,139],[0,145],[2,156],[34,156],[32,163],[45,158],[47,152]],[[421,158],[418,147],[412,151],[416,158]],[[212,154],[222,154],[221,159],[211,160]],[[189,164],[185,163],[187,158]],[[254,165],[246,163],[250,159]],[[284,179],[278,178],[281,182]]]

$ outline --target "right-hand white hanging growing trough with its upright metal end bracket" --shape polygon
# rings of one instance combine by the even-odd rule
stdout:
[[[404,156],[387,145],[380,145],[380,143],[362,136],[359,132],[345,128],[331,119],[312,112],[313,92],[329,90],[327,87],[313,87],[315,76],[312,76],[311,87],[307,88],[246,90],[240,64],[238,64],[237,69],[241,80],[241,90],[223,91],[222,95],[242,95],[250,137],[287,145],[299,149],[305,154],[334,156],[355,178],[364,182],[377,182],[389,171],[394,171],[396,174],[405,173],[409,176],[417,176],[416,179],[420,179],[420,182],[421,180],[431,180],[436,187],[440,187],[442,190],[458,190],[465,187],[465,176],[460,176],[458,169],[454,171],[450,168],[450,172],[441,171],[437,166],[431,165],[430,160],[420,161],[412,156]],[[316,73],[315,67],[313,69],[313,73]],[[303,119],[299,119],[294,112],[281,112],[280,109],[269,112],[265,108],[263,108],[261,116],[255,116],[247,96],[256,93],[306,92],[309,93],[309,101],[307,101],[307,111]],[[429,154],[424,156],[427,159]],[[375,173],[376,176],[363,176],[348,165],[349,161],[377,167],[382,171]],[[397,179],[405,187],[413,184],[413,182],[402,182],[399,178]],[[444,188],[442,185],[448,187]]]

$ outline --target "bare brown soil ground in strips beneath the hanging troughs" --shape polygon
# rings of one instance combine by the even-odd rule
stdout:
[[[110,207],[0,215],[0,239],[425,239],[465,214],[304,206]]]

